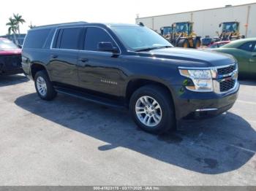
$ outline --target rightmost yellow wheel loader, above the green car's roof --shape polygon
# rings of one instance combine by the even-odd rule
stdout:
[[[244,35],[239,33],[239,23],[237,21],[220,23],[219,28],[222,27],[222,33],[217,32],[217,37],[215,37],[215,42],[244,39]]]

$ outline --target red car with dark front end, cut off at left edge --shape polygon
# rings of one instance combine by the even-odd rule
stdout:
[[[20,48],[9,39],[0,38],[0,76],[21,73]]]

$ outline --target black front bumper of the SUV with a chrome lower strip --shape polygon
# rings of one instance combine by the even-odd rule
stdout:
[[[214,117],[230,109],[238,98],[239,83],[236,87],[223,94],[197,93],[176,87],[177,97],[174,98],[176,119],[197,119]]]

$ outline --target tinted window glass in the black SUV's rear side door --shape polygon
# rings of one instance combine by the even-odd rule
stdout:
[[[61,35],[60,48],[61,49],[79,49],[79,38],[82,28],[64,28]]]

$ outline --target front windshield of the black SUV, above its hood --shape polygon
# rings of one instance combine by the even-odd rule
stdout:
[[[173,47],[165,38],[149,28],[141,26],[113,26],[113,31],[129,50],[152,47]]]

